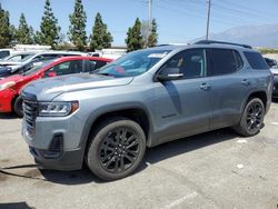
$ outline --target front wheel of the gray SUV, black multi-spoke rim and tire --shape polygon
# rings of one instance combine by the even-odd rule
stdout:
[[[131,175],[146,151],[142,128],[126,118],[103,121],[89,140],[87,166],[103,180],[117,180]]]

